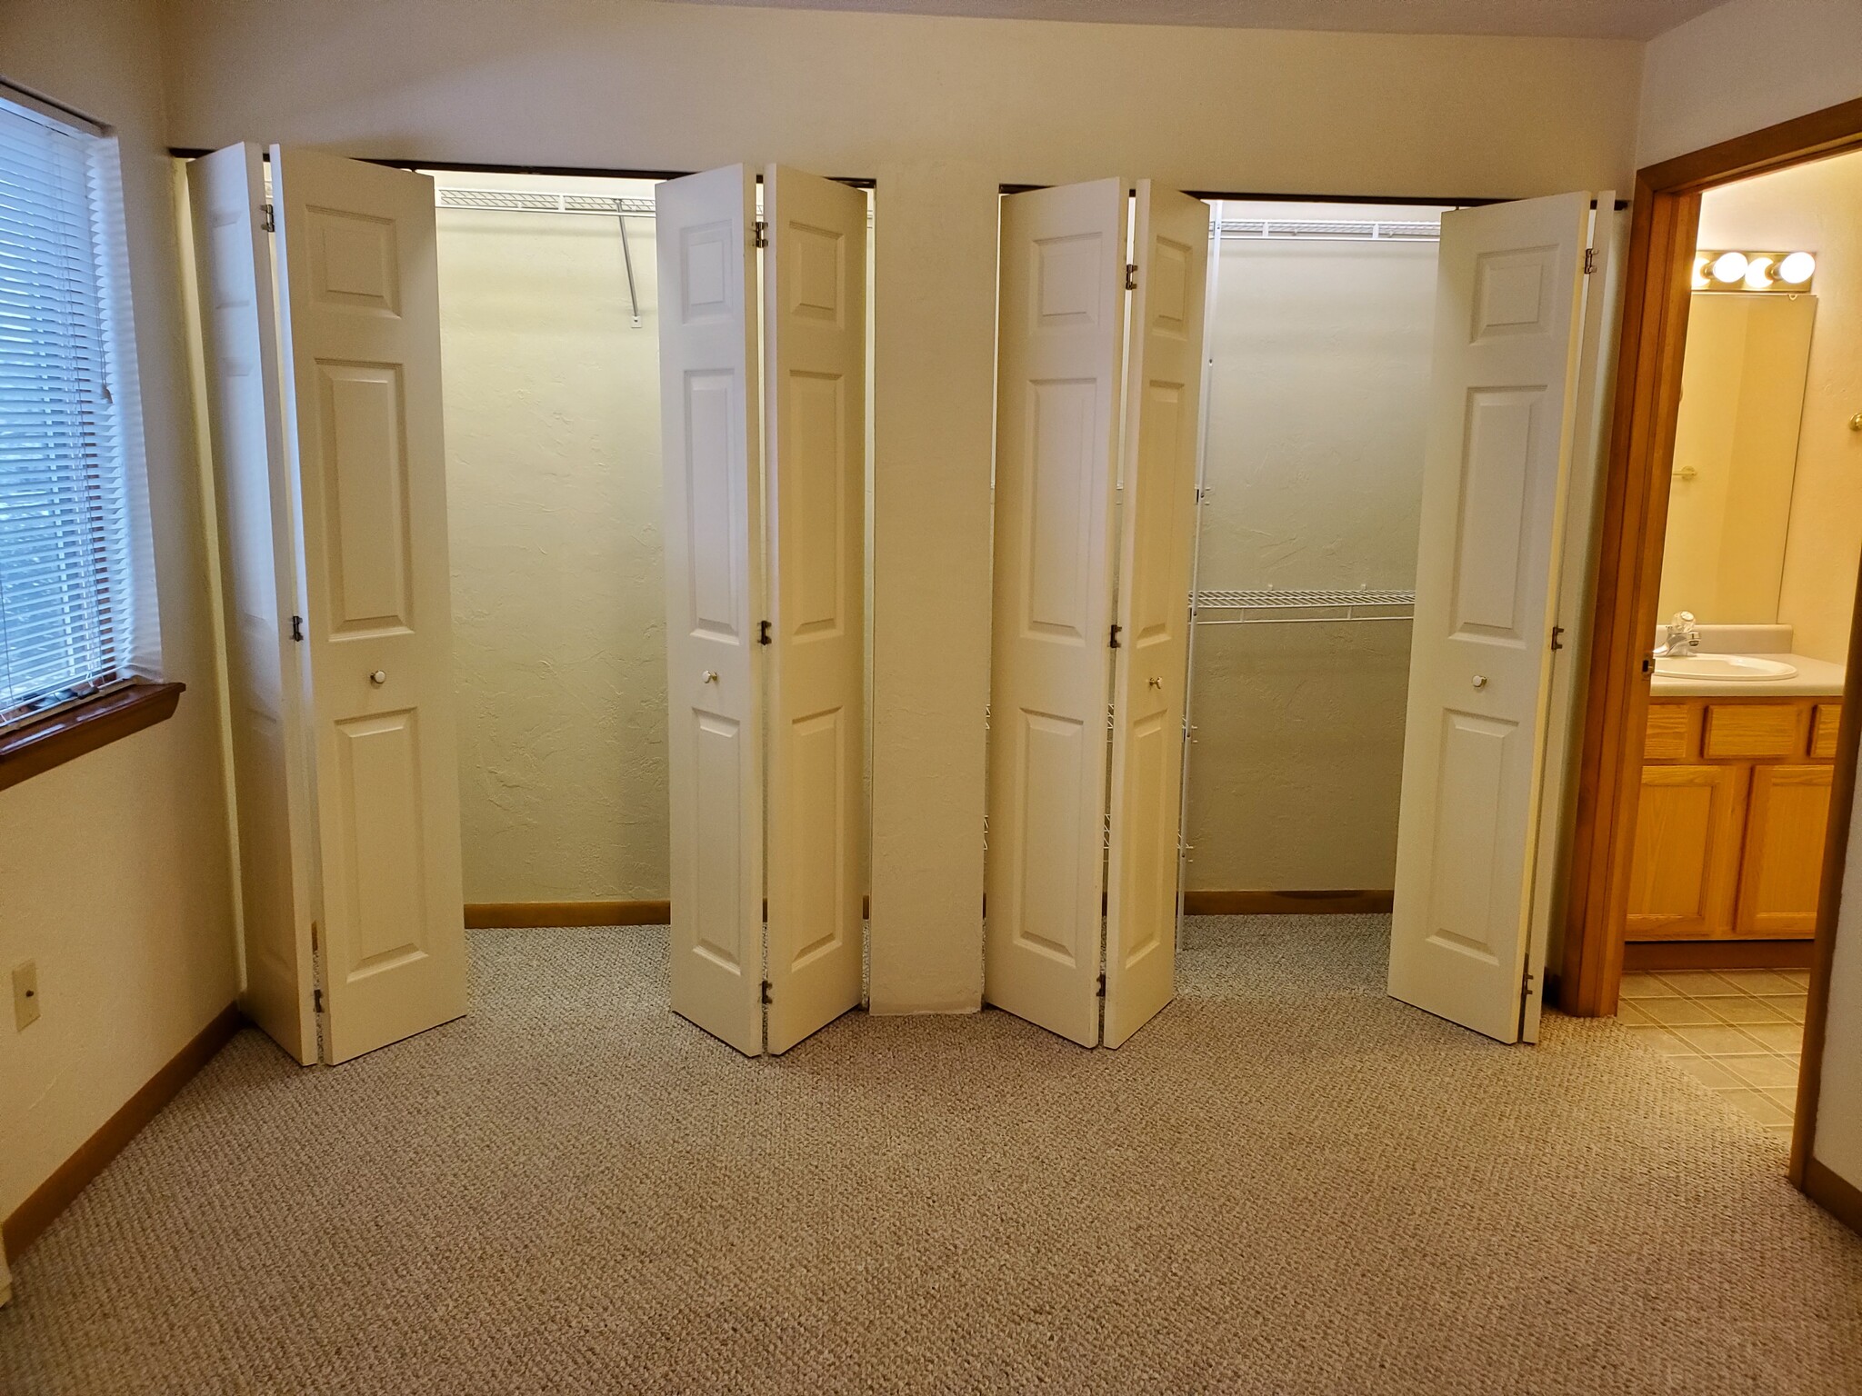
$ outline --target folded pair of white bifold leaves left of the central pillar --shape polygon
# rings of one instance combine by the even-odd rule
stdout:
[[[672,1009],[745,1054],[857,1007],[864,959],[866,197],[754,197],[657,192]]]

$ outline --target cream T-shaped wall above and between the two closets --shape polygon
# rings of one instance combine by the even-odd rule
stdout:
[[[263,134],[426,160],[780,158],[879,177],[875,359],[894,370],[875,395],[873,830],[884,858],[911,860],[873,879],[873,1001],[892,1009],[974,1007],[981,985],[989,648],[976,637],[989,629],[978,581],[994,391],[978,335],[994,303],[996,184],[1110,173],[1313,194],[1620,184],[1642,65],[1640,45],[1622,41],[644,0],[169,0],[168,17],[177,145]],[[918,233],[896,240],[896,214],[922,220]],[[953,987],[966,987],[961,1000]]]

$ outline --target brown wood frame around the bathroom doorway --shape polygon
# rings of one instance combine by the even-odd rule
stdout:
[[[1637,171],[1631,203],[1622,342],[1609,463],[1601,491],[1592,644],[1585,674],[1577,826],[1572,843],[1560,1007],[1596,1016],[1616,1013],[1622,981],[1622,925],[1629,906],[1635,806],[1648,720],[1642,657],[1655,629],[1661,553],[1668,523],[1668,475],[1681,402],[1681,352],[1693,296],[1700,195],[1720,184],[1786,169],[1830,154],[1862,151],[1862,99],[1782,121]],[[1858,577],[1862,605],[1862,577]],[[1862,611],[1858,618],[1862,620]],[[1849,670],[1862,664],[1862,624],[1851,622]],[[1855,804],[1862,698],[1851,678],[1843,692],[1830,793],[1830,828],[1817,905],[1815,968],[1804,1024],[1791,1180],[1804,1186],[1815,1165],[1817,1085],[1828,1013],[1836,912],[1842,901],[1849,813]]]

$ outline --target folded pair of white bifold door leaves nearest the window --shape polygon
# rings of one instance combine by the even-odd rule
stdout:
[[[270,201],[253,147],[190,181],[246,1001],[307,1061],[309,996],[339,1063],[466,1011],[434,188],[279,147]]]

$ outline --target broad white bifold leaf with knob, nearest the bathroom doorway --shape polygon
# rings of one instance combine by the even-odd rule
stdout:
[[[1441,220],[1389,992],[1503,1042],[1525,992],[1588,212],[1566,194]]]

